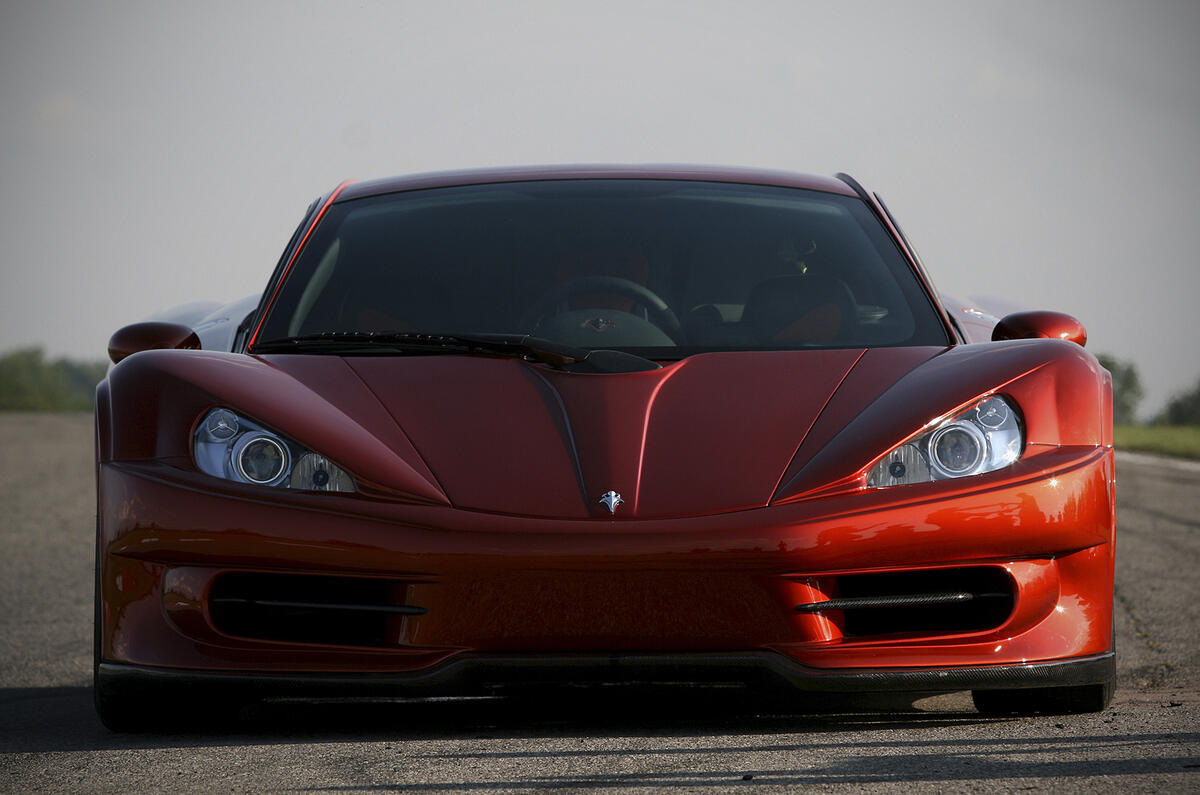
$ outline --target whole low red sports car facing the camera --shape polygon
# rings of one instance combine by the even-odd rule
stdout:
[[[695,682],[1112,693],[1109,373],[852,178],[347,183],[262,298],[119,330],[96,704]]]

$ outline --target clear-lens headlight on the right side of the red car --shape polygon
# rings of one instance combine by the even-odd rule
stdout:
[[[886,489],[982,474],[1008,466],[1024,447],[1013,405],[991,395],[884,455],[871,467],[866,485]]]

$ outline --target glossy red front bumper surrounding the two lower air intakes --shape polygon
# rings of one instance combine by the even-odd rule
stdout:
[[[1100,681],[1096,660],[1112,647],[1112,454],[1032,459],[937,498],[893,489],[625,521],[264,494],[163,464],[103,464],[101,675],[422,689],[460,671],[582,676],[617,659],[733,660],[824,689]],[[1012,609],[994,626],[854,634],[836,610],[797,611],[836,597],[846,576],[964,567],[1010,581]],[[421,612],[389,618],[373,644],[239,634],[214,620],[214,584],[229,573],[386,579]],[[1034,683],[988,685],[1001,680]]]

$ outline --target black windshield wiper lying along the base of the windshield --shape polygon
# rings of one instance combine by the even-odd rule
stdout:
[[[258,342],[251,353],[364,353],[372,349],[511,355],[570,372],[643,372],[661,365],[624,351],[577,348],[528,334],[325,331]]]

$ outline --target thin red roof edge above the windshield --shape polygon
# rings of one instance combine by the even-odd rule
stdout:
[[[841,196],[858,196],[846,183],[832,177],[817,177],[766,168],[731,166],[694,166],[676,163],[583,163],[559,166],[504,166],[462,171],[427,172],[404,177],[350,183],[337,196],[337,202],[349,202],[368,196],[415,191],[430,187],[486,185],[496,183],[528,183],[569,179],[670,179],[703,183],[739,183],[800,187]]]

